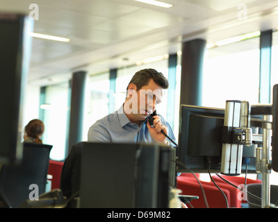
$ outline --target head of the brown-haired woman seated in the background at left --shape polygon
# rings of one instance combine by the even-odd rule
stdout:
[[[33,119],[24,128],[24,143],[42,144],[42,134],[44,133],[44,123],[40,119]]]

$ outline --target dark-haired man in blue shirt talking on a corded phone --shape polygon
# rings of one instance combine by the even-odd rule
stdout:
[[[168,86],[167,78],[155,69],[136,72],[126,88],[124,104],[90,127],[88,142],[170,144],[161,130],[173,140],[174,133],[163,117],[156,114],[153,126],[149,124]]]

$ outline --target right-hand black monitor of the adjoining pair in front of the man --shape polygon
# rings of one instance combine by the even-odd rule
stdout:
[[[176,148],[140,145],[136,155],[137,208],[168,207],[176,182]]]

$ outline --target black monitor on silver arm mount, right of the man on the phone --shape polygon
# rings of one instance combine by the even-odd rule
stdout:
[[[224,109],[181,105],[177,171],[180,173],[220,173]],[[255,147],[243,146],[242,172],[249,157],[248,173],[256,173]]]

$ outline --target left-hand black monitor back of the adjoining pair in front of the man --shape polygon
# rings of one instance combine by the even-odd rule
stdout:
[[[80,207],[134,207],[136,144],[85,142]]]

